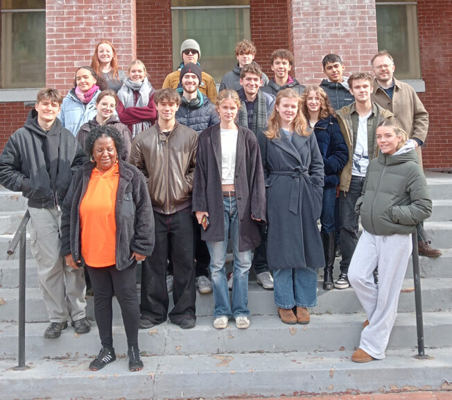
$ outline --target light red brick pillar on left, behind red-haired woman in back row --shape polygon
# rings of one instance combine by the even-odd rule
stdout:
[[[67,93],[96,44],[110,40],[120,68],[136,57],[135,0],[47,0],[46,85]]]

